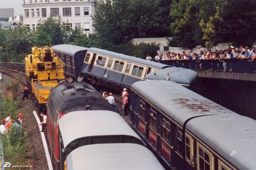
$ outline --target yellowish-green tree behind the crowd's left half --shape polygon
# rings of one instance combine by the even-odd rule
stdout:
[[[204,33],[199,25],[200,21],[203,20],[207,23],[210,17],[214,17],[217,13],[217,9],[219,9],[220,13],[218,17],[221,18],[225,4],[225,0],[173,1],[170,5],[170,17],[172,18],[170,29],[174,34],[174,39],[170,41],[170,45],[188,48],[195,45],[203,45],[205,39],[203,39]],[[210,22],[215,24],[213,21]],[[221,24],[218,22],[218,25]],[[218,29],[219,26],[215,26],[214,31],[219,32]]]

